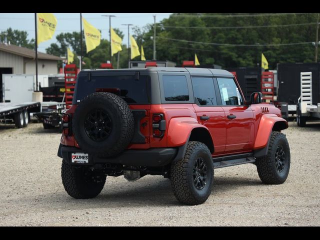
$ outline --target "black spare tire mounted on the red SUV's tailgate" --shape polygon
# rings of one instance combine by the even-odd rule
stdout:
[[[128,104],[110,92],[95,92],[78,103],[72,131],[80,148],[99,157],[114,156],[130,143],[134,118]]]

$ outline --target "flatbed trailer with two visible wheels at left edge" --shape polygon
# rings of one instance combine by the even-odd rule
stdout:
[[[40,102],[24,103],[0,103],[0,122],[13,123],[16,127],[22,128],[27,126],[30,121],[30,113],[40,111]]]

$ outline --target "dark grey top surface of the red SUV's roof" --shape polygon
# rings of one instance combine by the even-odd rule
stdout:
[[[233,74],[227,70],[214,68],[197,68],[197,67],[148,67],[148,68],[120,68],[120,69],[83,69],[81,72],[95,71],[176,71],[189,72],[192,76],[226,76],[233,77]]]

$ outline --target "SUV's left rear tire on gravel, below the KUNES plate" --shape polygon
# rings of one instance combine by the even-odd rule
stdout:
[[[65,191],[70,196],[80,199],[97,196],[104,186],[106,176],[95,171],[90,172],[87,166],[71,165],[62,159],[61,178]],[[85,177],[85,172],[91,175]]]

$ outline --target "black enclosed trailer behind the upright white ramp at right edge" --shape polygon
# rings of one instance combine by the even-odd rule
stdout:
[[[289,117],[295,117],[297,112],[298,98],[301,95],[300,74],[301,72],[311,72],[313,81],[310,89],[313,92],[311,99],[312,104],[316,105],[320,102],[319,79],[320,79],[320,63],[278,63],[278,94],[275,105],[280,108],[281,115],[288,120]]]

